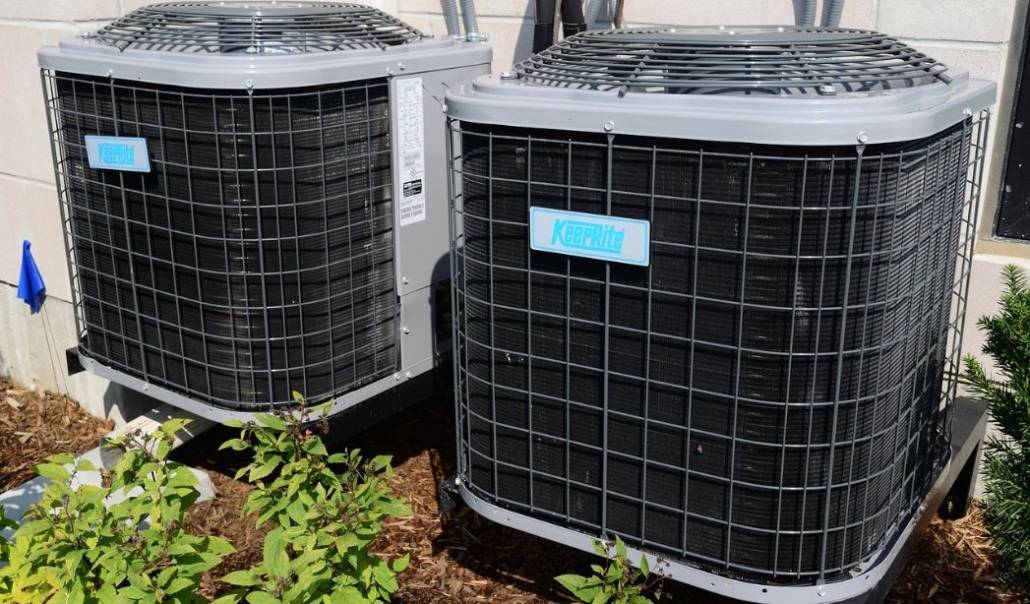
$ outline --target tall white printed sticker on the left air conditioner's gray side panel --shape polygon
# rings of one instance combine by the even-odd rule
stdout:
[[[425,220],[425,125],[422,78],[397,80],[398,138],[401,152],[401,226]]]

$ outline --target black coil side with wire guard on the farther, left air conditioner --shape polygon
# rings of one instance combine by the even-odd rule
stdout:
[[[241,411],[397,370],[385,80],[43,83],[81,354]],[[91,134],[145,138],[151,171],[91,168]]]

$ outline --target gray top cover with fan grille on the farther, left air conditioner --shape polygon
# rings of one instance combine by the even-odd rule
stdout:
[[[41,48],[39,65],[190,88],[262,90],[468,65],[458,48],[489,53],[434,40],[360,4],[209,0],[144,6],[96,33]]]

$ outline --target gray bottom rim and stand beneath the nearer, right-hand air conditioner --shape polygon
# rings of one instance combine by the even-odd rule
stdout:
[[[946,498],[968,504],[978,474],[976,469],[986,430],[987,409],[984,404],[968,397],[959,397],[953,415],[951,460],[920,506],[920,513],[909,521],[893,543],[871,556],[853,578],[817,585],[772,585],[720,576],[632,547],[629,548],[629,559],[636,561],[642,555],[646,556],[651,568],[663,568],[663,574],[668,578],[714,594],[715,600],[706,600],[712,604],[881,604],[904,567],[908,551],[916,544],[914,537],[926,529]],[[460,477],[456,481],[461,499],[480,515],[577,549],[593,551],[591,541],[594,536],[492,505],[469,491]]]

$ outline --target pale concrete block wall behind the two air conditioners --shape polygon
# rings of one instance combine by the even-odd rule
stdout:
[[[437,36],[446,34],[439,0],[364,0]],[[568,1],[568,0],[566,0]],[[626,0],[627,25],[754,25],[794,22],[800,0]],[[3,0],[0,1],[0,375],[29,384],[67,392],[98,415],[122,416],[128,393],[88,374],[64,374],[64,349],[74,345],[71,290],[65,264],[61,225],[36,49],[63,37],[94,31],[149,0]],[[999,120],[992,141],[999,140],[1010,85],[1010,35],[1014,14],[1026,0],[849,0],[842,25],[877,29],[902,37],[917,48],[954,68],[1002,82]],[[534,0],[479,0],[480,29],[490,35],[495,70],[509,68],[529,53]],[[820,2],[820,13],[825,8]],[[1025,6],[1024,6],[1025,8]],[[1022,25],[1022,23],[1020,24]],[[995,155],[1002,148],[995,144]],[[993,196],[988,183],[986,195]],[[44,311],[33,315],[14,297],[22,240],[33,251],[47,283]],[[1027,256],[1027,246],[1009,246],[1007,255]],[[998,259],[1001,260],[998,260]],[[978,258],[974,278],[980,287],[970,322],[990,311],[996,298],[999,262],[1009,256]],[[973,328],[972,333],[975,332]],[[974,338],[967,349],[975,349]],[[145,401],[144,401],[145,404]],[[125,411],[126,415],[132,414]]]

